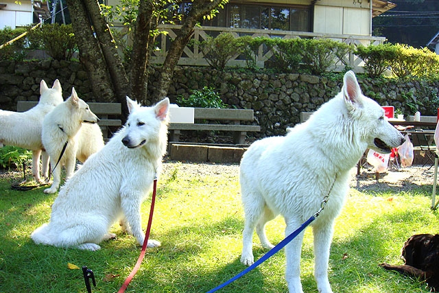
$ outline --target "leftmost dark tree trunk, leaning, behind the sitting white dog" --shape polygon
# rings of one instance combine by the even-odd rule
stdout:
[[[99,43],[93,35],[84,1],[67,0],[67,5],[80,51],[80,61],[87,69],[93,95],[101,101],[114,102],[115,93],[110,75]]]

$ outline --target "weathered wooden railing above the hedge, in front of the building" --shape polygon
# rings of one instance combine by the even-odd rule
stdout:
[[[171,40],[176,38],[176,31],[180,29],[180,25],[160,25],[159,30],[167,32],[167,34],[161,34],[158,38],[158,48],[154,51],[151,61],[155,64],[161,64],[165,60],[167,49],[171,44]],[[207,36],[217,36],[221,32],[230,32],[233,36],[266,36],[269,38],[331,38],[332,40],[338,40],[340,42],[358,45],[378,45],[385,41],[384,37],[379,36],[355,36],[347,34],[320,34],[313,32],[292,32],[283,30],[256,30],[256,29],[237,29],[229,27],[195,27],[195,32],[192,38],[195,40],[190,47],[185,47],[184,53],[178,62],[179,65],[209,65],[204,59],[202,51],[198,45],[199,42],[206,40]],[[257,66],[264,67],[264,62],[272,57],[272,51],[266,46],[261,45],[257,55]],[[363,60],[354,54],[348,56],[349,67],[357,72],[361,72]],[[228,66],[246,66],[246,60],[239,60],[239,56],[235,56],[227,63]],[[333,71],[344,70],[344,65],[341,62],[332,68]]]

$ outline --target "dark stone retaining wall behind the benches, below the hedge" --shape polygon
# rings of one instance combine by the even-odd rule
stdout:
[[[157,72],[152,69],[150,91],[154,91]],[[19,100],[38,100],[39,82],[49,86],[58,78],[64,99],[71,86],[87,102],[99,102],[90,89],[84,67],[78,62],[41,60],[32,62],[0,62],[0,108],[16,110]],[[392,105],[405,115],[413,115],[410,105],[418,105],[422,115],[436,116],[439,82],[359,78],[365,95],[379,104]],[[212,86],[218,89],[223,101],[237,108],[252,108],[256,123],[261,126],[257,136],[284,134],[285,128],[300,121],[300,112],[312,112],[340,92],[342,75],[337,80],[305,74],[263,74],[243,69],[219,72],[209,67],[178,67],[169,98],[189,95],[193,89]]]

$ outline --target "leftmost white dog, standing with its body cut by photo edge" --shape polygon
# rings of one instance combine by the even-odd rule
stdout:
[[[40,156],[43,155],[43,177],[47,177],[49,157],[43,151],[41,128],[43,119],[55,106],[62,103],[62,89],[59,80],[55,80],[51,89],[44,80],[40,82],[40,100],[34,108],[23,113],[0,110],[0,148],[14,145],[32,150],[32,176],[37,183],[40,178]]]

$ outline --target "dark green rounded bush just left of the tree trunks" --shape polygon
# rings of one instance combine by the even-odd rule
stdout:
[[[71,25],[58,23],[43,25],[35,30],[27,29],[29,42],[47,51],[55,60],[71,60],[76,51],[75,34]]]

